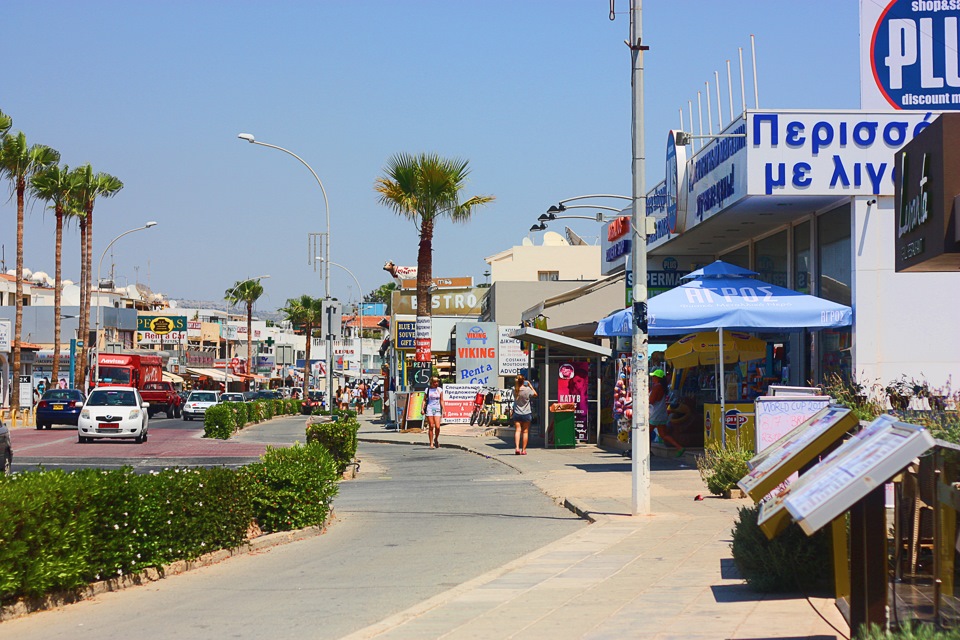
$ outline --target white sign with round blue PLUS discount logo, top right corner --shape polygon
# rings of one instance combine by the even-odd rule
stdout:
[[[860,0],[860,106],[960,109],[960,2]]]

